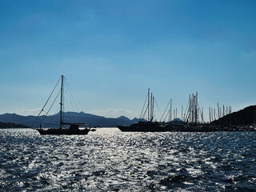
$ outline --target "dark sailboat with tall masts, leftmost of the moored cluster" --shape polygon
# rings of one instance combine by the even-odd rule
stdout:
[[[145,101],[146,103],[146,101]],[[142,114],[148,113],[147,121],[144,118],[140,118],[139,122],[131,124],[130,126],[120,126],[118,125],[118,129],[122,132],[166,132],[170,131],[169,128],[162,125],[161,123],[154,121],[154,97],[150,97],[150,89],[147,94],[147,107],[145,112],[143,113],[144,107],[142,109]],[[144,105],[145,106],[145,105]]]

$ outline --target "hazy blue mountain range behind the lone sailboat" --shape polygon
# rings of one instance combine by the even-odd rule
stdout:
[[[79,122],[79,123],[86,123],[89,126],[100,126],[100,127],[115,127],[117,125],[126,125],[129,126],[134,122],[138,122],[138,118],[134,118],[130,120],[124,116],[119,118],[105,118],[102,116],[94,115],[94,114],[85,114],[83,112],[76,113],[76,112],[63,112],[63,122]],[[59,119],[60,114],[54,114],[45,117],[42,115],[38,117],[37,121],[35,119],[37,116],[22,116],[18,114],[0,114],[0,122],[11,122],[16,124],[22,124],[25,126],[38,127],[42,122],[43,118],[44,121],[42,122],[42,127],[58,127],[59,126]]]

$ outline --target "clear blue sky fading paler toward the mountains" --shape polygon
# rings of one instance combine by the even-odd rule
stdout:
[[[256,1],[0,0],[0,114],[38,114],[64,74],[85,113],[256,104]]]

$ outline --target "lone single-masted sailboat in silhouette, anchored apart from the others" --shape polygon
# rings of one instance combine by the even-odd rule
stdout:
[[[79,129],[79,126],[87,126],[84,123],[74,123],[74,122],[63,122],[63,115],[62,115],[62,106],[63,106],[63,78],[64,76],[61,75],[61,101],[60,101],[60,119],[59,119],[59,127],[58,128],[50,128],[50,129],[42,129],[42,122],[40,123],[40,128],[36,129],[38,130],[39,134],[67,134],[67,135],[71,135],[71,134],[88,134],[90,131],[90,128],[84,128],[82,130]],[[59,81],[58,81],[59,82]],[[58,85],[58,83],[56,84],[56,86]],[[54,89],[56,88],[56,86],[54,87]],[[52,93],[50,94],[50,96],[53,94],[54,90],[52,91]],[[50,98],[50,97],[49,97]],[[46,103],[49,101],[49,98],[47,99]],[[46,104],[43,106],[41,112],[38,114],[38,117],[40,116],[40,114],[42,113],[42,111],[44,110],[44,107],[46,106]],[[49,112],[49,110],[48,110]],[[48,114],[47,112],[47,114]],[[34,122],[37,121],[38,117],[34,120]],[[34,124],[34,123],[33,123]],[[69,128],[63,127],[63,126],[69,126]]]

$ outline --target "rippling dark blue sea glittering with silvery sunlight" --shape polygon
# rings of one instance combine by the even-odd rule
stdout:
[[[0,130],[0,191],[256,191],[256,132]]]

